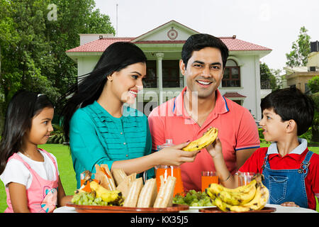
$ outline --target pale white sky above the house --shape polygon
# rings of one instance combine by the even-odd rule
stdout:
[[[311,42],[319,40],[319,0],[95,2],[101,13],[110,16],[118,37],[137,37],[174,20],[199,33],[217,37],[236,35],[240,40],[270,48],[272,52],[260,61],[274,70],[283,70],[286,66],[286,53],[291,52],[292,43],[298,39],[302,26],[308,30]]]

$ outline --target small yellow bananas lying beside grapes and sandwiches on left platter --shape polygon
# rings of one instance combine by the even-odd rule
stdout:
[[[110,191],[94,181],[90,182],[90,187],[91,187],[91,190],[96,193],[97,198],[101,198],[103,201],[106,201],[108,203],[118,201],[122,197],[122,194],[120,191],[117,191],[117,190]]]

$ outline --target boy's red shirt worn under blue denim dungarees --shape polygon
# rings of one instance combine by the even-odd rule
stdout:
[[[276,143],[273,143],[276,144]],[[272,150],[272,148],[270,148]],[[260,172],[262,173],[262,165],[268,148],[259,148],[238,170],[239,172]],[[284,157],[274,150],[270,151],[268,156],[269,165],[272,170],[292,170],[299,169],[303,162],[308,148],[303,152],[289,153]],[[308,167],[308,175],[305,179],[306,193],[308,197],[308,207],[315,210],[315,196],[319,197],[319,155],[313,154]]]

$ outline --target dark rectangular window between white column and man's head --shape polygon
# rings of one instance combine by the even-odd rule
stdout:
[[[163,87],[179,87],[179,60],[163,60]]]

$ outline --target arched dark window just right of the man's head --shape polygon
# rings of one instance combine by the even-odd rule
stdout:
[[[240,87],[240,67],[234,60],[227,60],[222,87]]]

